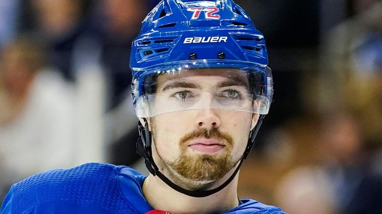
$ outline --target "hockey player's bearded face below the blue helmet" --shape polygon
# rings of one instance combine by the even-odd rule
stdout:
[[[230,74],[240,74],[231,70]],[[218,105],[254,104],[246,75],[226,75],[222,69],[203,69],[157,79],[155,108],[186,105],[188,109],[150,118],[153,153],[170,177],[199,183],[222,178],[242,158],[249,131],[258,115]],[[190,106],[203,107],[192,109]],[[154,155],[155,157],[155,155]]]

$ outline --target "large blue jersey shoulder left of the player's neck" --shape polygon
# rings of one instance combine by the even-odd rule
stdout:
[[[128,167],[86,163],[28,177],[11,188],[12,213],[24,213],[39,207],[49,207],[51,211],[61,209],[59,213],[69,212],[70,209],[86,210],[88,207],[100,208],[94,213],[129,213],[133,208],[121,194],[117,179],[122,168]]]

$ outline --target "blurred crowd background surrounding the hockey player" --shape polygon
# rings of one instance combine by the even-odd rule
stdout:
[[[34,173],[142,170],[131,42],[159,0],[0,0],[0,202]],[[240,198],[382,213],[382,1],[236,0],[265,36],[274,101]]]

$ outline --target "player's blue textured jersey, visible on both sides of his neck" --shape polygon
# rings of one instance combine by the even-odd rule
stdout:
[[[153,210],[142,193],[146,176],[127,166],[87,163],[36,174],[14,184],[1,214],[144,214]],[[254,200],[227,214],[285,214]]]

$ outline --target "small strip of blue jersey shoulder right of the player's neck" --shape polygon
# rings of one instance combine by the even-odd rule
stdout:
[[[262,204],[252,199],[243,199],[242,205],[231,210],[227,214],[287,214],[280,208]]]

